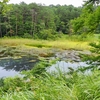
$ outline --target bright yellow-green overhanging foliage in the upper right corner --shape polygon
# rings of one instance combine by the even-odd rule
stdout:
[[[82,9],[82,14],[71,20],[71,27],[76,34],[100,33],[100,6],[96,1],[88,0]]]

